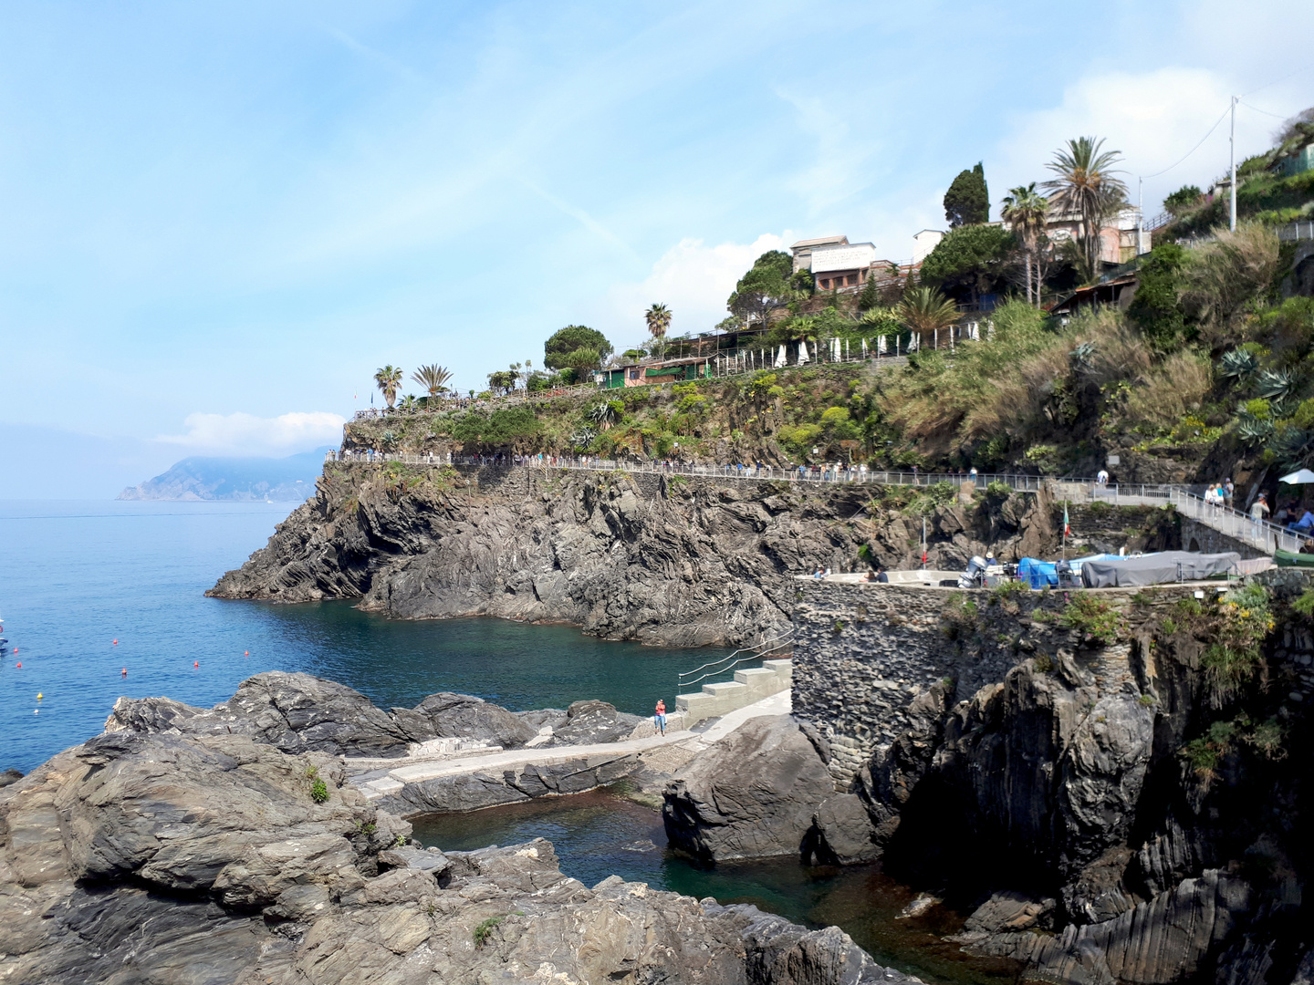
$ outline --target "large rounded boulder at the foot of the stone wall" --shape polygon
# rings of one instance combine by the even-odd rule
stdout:
[[[671,846],[710,860],[799,855],[834,780],[788,714],[752,718],[666,784]]]

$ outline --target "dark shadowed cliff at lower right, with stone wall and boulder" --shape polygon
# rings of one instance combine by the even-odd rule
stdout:
[[[1300,574],[1204,598],[940,592],[938,644],[915,641],[938,663],[909,675],[933,683],[895,709],[883,686],[897,682],[884,678],[905,663],[845,637],[907,636],[907,604],[883,598],[899,591],[854,586],[841,604],[819,588],[800,603],[816,623],[795,650],[795,688],[813,692],[795,696],[807,718],[740,733],[740,766],[708,750],[678,771],[666,787],[673,843],[714,860],[882,858],[975,909],[959,943],[1022,960],[1038,981],[1307,974],[1314,588]],[[886,718],[897,730],[838,774],[842,792],[819,784],[832,741],[879,738]],[[759,759],[784,737],[788,756]]]

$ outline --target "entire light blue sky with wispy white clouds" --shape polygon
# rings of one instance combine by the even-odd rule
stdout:
[[[1154,214],[1226,172],[1230,95],[1239,159],[1314,104],[1311,35],[1292,0],[0,0],[0,499],[336,444],[384,364],[484,389],[565,324],[706,331],[763,251],[908,260],[961,169],[997,215],[1083,134]]]

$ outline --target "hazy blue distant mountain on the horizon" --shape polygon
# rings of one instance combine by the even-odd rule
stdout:
[[[326,448],[286,458],[184,458],[118,499],[301,500],[315,490]]]

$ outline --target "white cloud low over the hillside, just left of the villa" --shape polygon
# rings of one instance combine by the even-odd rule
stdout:
[[[706,246],[682,239],[653,264],[639,284],[618,284],[607,293],[603,318],[618,349],[646,338],[644,311],[662,303],[671,310],[670,334],[706,332],[727,317],[725,298],[753,261],[769,250],[788,250],[792,236],[763,232],[752,243]]]

